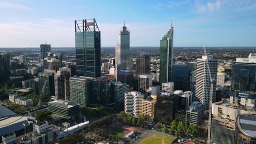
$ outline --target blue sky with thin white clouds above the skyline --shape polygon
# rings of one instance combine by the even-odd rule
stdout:
[[[256,46],[256,1],[2,1],[0,47],[74,47],[74,20],[95,18],[101,45],[130,29],[131,46],[159,46],[171,27],[174,46]]]

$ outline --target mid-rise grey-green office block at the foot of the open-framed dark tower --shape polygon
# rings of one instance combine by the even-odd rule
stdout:
[[[69,79],[70,101],[79,103],[80,106],[89,106],[91,100],[92,77],[71,77]]]

